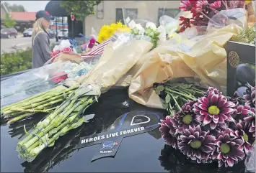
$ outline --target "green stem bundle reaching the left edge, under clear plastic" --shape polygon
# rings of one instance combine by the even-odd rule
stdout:
[[[74,93],[76,88],[78,86],[66,88],[61,85],[52,90],[5,106],[1,108],[1,118],[9,120],[8,123],[14,123],[35,113],[49,113],[54,111],[68,95]]]

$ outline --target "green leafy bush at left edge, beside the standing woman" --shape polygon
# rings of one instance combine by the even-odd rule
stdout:
[[[1,76],[32,67],[32,49],[1,54]]]

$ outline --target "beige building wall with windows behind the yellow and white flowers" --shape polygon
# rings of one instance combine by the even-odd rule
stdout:
[[[95,14],[84,19],[84,33],[92,34],[92,28],[98,33],[102,25],[124,23],[127,17],[159,24],[162,15],[176,17],[179,6],[180,1],[102,1],[95,6]]]

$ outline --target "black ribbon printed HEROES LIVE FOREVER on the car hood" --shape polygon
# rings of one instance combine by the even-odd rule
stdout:
[[[162,113],[154,111],[131,111],[118,117],[107,131],[80,138],[77,149],[101,144],[92,162],[103,157],[114,157],[123,138],[146,133],[159,127]]]

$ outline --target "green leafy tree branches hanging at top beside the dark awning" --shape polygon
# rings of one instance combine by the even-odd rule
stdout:
[[[89,14],[94,14],[94,6],[101,1],[61,1],[61,6],[66,9],[68,14],[74,13],[77,20],[84,20]]]

